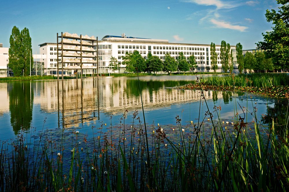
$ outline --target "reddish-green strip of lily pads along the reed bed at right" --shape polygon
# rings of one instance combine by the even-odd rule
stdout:
[[[289,88],[288,86],[272,86],[272,87],[254,87],[254,86],[215,86],[209,85],[205,83],[201,83],[201,87],[199,84],[187,84],[183,86],[179,86],[179,89],[197,89],[201,88],[204,91],[215,90],[215,91],[240,91],[240,92],[250,92],[254,94],[267,95],[269,97],[289,97]]]

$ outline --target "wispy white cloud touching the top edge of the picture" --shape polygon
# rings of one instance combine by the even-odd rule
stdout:
[[[206,6],[213,5],[216,6],[217,9],[230,9],[240,6],[240,4],[237,3],[221,0],[185,0],[185,2],[197,3],[198,5],[206,5]]]

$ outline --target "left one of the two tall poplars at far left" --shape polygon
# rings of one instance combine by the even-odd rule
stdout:
[[[21,75],[24,69],[24,61],[21,56],[21,36],[18,27],[12,28],[10,35],[10,48],[9,48],[9,67],[13,70],[14,76],[18,77]]]

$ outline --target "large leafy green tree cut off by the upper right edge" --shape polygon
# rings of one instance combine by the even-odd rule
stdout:
[[[278,11],[266,10],[266,20],[273,22],[272,31],[262,33],[264,41],[260,41],[257,46],[264,49],[266,57],[279,68],[289,68],[289,4],[288,0],[277,0]]]

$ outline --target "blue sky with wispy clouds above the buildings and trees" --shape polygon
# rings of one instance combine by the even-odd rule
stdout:
[[[276,0],[1,0],[0,43],[9,47],[13,26],[29,29],[33,54],[56,43],[61,32],[167,39],[170,43],[230,45],[255,49],[272,30],[266,10]]]

